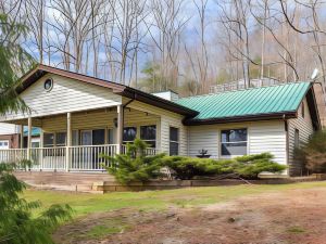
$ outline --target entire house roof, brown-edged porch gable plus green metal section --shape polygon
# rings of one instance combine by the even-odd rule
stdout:
[[[311,82],[250,88],[217,94],[189,97],[171,102],[128,86],[39,64],[22,78],[17,92],[23,92],[47,74],[55,74],[80,82],[109,88],[113,93],[128,98],[130,101],[140,101],[184,115],[185,125],[296,118],[298,107],[303,98],[306,97],[314,128],[321,128]]]

